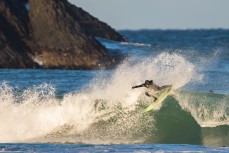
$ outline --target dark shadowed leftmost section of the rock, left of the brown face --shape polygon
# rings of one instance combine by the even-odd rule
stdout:
[[[26,45],[28,16],[20,1],[0,0],[0,68],[26,68],[36,64]]]

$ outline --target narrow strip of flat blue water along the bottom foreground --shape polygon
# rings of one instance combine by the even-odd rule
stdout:
[[[215,152],[226,153],[227,147],[204,147],[186,144],[91,145],[91,144],[0,144],[0,152]]]

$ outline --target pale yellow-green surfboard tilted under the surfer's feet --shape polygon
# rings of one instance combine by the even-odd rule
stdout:
[[[168,88],[165,88],[165,89],[162,89],[161,91],[159,91],[156,96],[158,97],[158,99],[153,102],[152,104],[150,104],[145,110],[144,112],[148,112],[150,110],[152,110],[156,105],[162,103],[165,98],[171,93],[172,91],[172,87],[168,87]]]

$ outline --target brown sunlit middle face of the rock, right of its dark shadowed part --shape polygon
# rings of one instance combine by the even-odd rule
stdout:
[[[35,61],[51,68],[92,68],[108,60],[106,49],[88,37],[65,0],[30,0]]]

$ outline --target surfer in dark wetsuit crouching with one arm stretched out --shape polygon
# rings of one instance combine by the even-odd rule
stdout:
[[[164,86],[160,87],[160,86],[156,85],[153,82],[153,80],[146,80],[145,83],[143,83],[141,85],[133,86],[132,89],[139,88],[139,87],[146,87],[146,88],[150,89],[151,92],[154,91],[154,94],[149,94],[149,92],[146,92],[145,95],[148,97],[153,97],[154,101],[156,101],[158,99],[158,97],[155,94],[162,89],[172,87],[172,85],[164,85]]]

